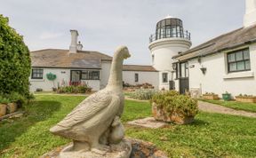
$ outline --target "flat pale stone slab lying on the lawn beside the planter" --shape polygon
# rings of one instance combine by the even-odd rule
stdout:
[[[164,126],[168,125],[166,122],[156,121],[154,117],[147,117],[139,120],[134,120],[132,122],[127,122],[127,124],[146,127],[150,129],[164,128]]]

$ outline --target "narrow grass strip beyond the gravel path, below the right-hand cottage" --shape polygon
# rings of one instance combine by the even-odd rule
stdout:
[[[256,113],[256,103],[244,103],[238,101],[223,101],[223,100],[213,100],[213,99],[200,99],[205,102],[209,102],[212,104],[217,104],[224,107],[234,108],[236,110],[244,110],[249,112]]]

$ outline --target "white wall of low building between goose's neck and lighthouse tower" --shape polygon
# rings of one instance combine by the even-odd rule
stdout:
[[[135,74],[139,74],[139,82],[135,82]],[[158,90],[158,72],[145,72],[145,71],[123,71],[123,81],[124,83],[129,83],[132,85],[141,83],[150,83],[156,90]]]

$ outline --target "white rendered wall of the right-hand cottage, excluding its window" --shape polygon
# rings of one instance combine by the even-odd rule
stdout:
[[[240,49],[243,48],[236,50]],[[197,59],[189,60],[190,91],[199,89],[203,94],[205,92],[214,92],[219,94],[220,98],[225,91],[231,93],[233,97],[241,93],[256,95],[256,44],[250,45],[249,49],[251,71],[228,73],[227,52],[206,56],[201,59],[201,64],[198,63]],[[200,67],[207,68],[205,75],[201,72]]]

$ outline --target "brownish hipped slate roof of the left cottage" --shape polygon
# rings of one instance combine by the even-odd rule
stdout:
[[[32,67],[58,68],[101,68],[101,61],[111,61],[112,57],[99,51],[77,51],[46,49],[30,52]]]

